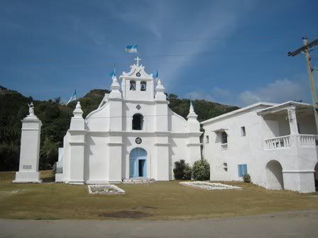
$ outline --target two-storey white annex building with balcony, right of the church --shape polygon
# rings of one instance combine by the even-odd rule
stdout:
[[[265,188],[315,191],[318,136],[312,105],[256,103],[201,125],[211,180],[240,181],[250,174]]]

